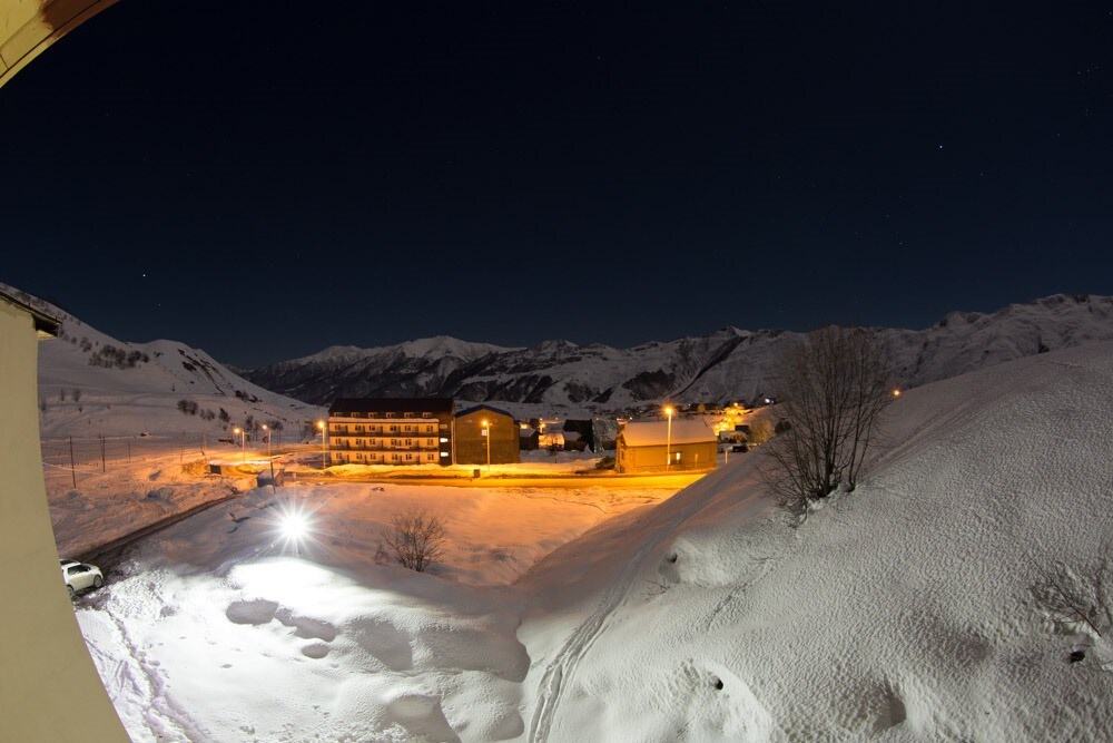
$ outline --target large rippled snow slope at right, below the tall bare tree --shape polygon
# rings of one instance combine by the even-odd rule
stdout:
[[[520,584],[531,739],[1107,740],[1109,641],[1032,588],[1110,557],[1111,393],[1110,344],[979,371],[797,528],[750,457],[567,545]]]

